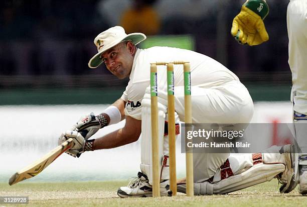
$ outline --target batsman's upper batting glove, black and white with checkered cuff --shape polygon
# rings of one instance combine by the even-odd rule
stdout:
[[[103,115],[96,117],[94,113],[82,117],[76,124],[74,124],[71,130],[76,130],[84,137],[85,140],[88,140],[93,134],[95,134],[99,129],[107,125],[107,119]]]

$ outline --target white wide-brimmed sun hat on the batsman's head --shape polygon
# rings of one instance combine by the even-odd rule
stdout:
[[[100,55],[122,41],[131,40],[134,45],[137,45],[145,39],[146,36],[143,33],[131,33],[127,35],[122,27],[111,27],[97,35],[94,39],[98,53],[89,60],[88,66],[90,68],[98,67],[103,62]]]

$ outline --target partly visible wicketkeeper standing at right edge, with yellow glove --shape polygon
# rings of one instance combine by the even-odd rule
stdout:
[[[268,1],[269,2],[269,1]],[[242,44],[259,45],[269,39],[263,23],[268,14],[265,0],[248,0],[234,18],[231,34]],[[290,0],[287,8],[289,66],[292,72],[291,101],[298,149],[295,182],[307,194],[307,0]]]

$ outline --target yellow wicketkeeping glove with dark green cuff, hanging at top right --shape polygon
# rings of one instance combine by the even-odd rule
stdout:
[[[248,0],[233,19],[231,34],[241,44],[259,45],[269,39],[263,23],[269,7],[263,0]]]

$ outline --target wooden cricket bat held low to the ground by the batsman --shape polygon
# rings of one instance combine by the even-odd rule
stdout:
[[[11,176],[9,184],[13,185],[25,179],[29,179],[41,173],[48,165],[50,165],[55,159],[57,159],[63,152],[70,149],[73,146],[73,139],[70,138],[57,146],[46,155],[36,160],[33,164],[28,165],[22,170],[16,172]]]

